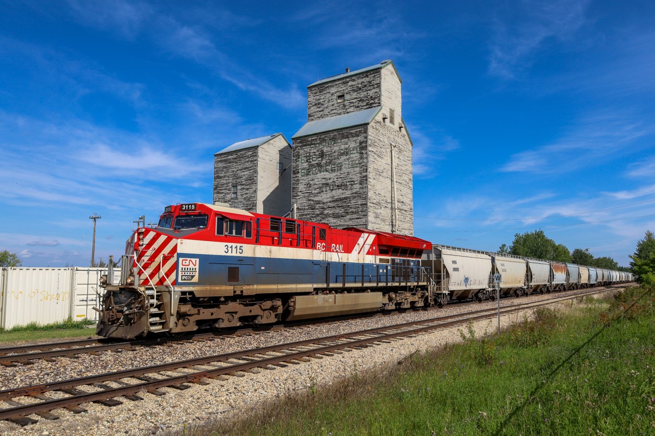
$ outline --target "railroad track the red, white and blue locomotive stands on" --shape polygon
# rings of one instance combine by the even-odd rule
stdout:
[[[611,286],[610,286],[611,287]],[[608,287],[603,287],[607,289]],[[595,289],[595,288],[594,288]],[[457,303],[462,304],[462,303]],[[465,305],[477,304],[476,302],[465,302]],[[436,307],[426,308],[426,310],[438,310]],[[316,320],[307,320],[307,321],[296,321],[293,323],[284,323],[277,324],[272,326],[264,327],[255,327],[255,328],[241,328],[241,329],[232,329],[228,331],[221,332],[211,332],[203,333],[202,331],[198,333],[191,333],[189,335],[183,336],[162,336],[159,338],[149,338],[149,339],[140,339],[140,340],[130,340],[119,342],[117,340],[110,340],[106,338],[90,338],[90,339],[80,339],[80,340],[70,340],[62,342],[48,342],[45,344],[29,344],[21,346],[10,346],[0,348],[0,365],[5,367],[14,367],[18,363],[22,365],[30,365],[33,361],[36,360],[45,360],[52,361],[54,357],[67,357],[75,359],[77,355],[80,354],[99,354],[101,352],[113,351],[113,352],[125,352],[125,351],[134,351],[138,350],[141,347],[149,346],[158,346],[166,345],[173,342],[188,342],[188,341],[198,341],[198,340],[209,340],[212,338],[217,338],[219,336],[226,335],[246,335],[246,334],[256,334],[261,333],[262,331],[271,331],[276,329],[285,329],[290,327],[302,327],[304,325],[317,325],[317,324],[329,324],[339,321],[349,320],[349,319],[363,319],[371,318],[375,316],[387,316],[395,312],[385,312],[385,313],[375,313],[375,314],[358,314],[358,315],[349,315],[338,318],[330,318],[324,321]]]

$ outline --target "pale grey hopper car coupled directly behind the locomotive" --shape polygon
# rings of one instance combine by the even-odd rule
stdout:
[[[451,299],[481,297],[489,290],[491,256],[483,251],[433,245],[422,266],[432,268],[433,280]]]

